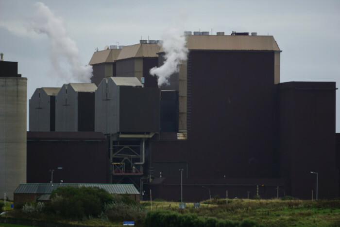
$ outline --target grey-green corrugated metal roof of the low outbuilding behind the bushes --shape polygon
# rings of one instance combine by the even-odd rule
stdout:
[[[133,184],[20,184],[13,193],[50,194],[59,187],[98,187],[110,194],[139,194]]]

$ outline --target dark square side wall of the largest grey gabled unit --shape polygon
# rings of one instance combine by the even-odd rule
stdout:
[[[119,87],[119,132],[159,132],[158,88]]]

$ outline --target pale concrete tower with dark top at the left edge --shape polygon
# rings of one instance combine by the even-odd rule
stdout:
[[[27,78],[17,74],[17,62],[0,61],[0,198],[26,183]]]

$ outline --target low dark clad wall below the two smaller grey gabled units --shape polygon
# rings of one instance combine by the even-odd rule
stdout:
[[[27,183],[108,183],[106,148],[99,132],[27,132]]]

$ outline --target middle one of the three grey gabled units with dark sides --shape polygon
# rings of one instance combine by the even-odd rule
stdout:
[[[94,131],[94,95],[91,83],[69,83],[55,98],[55,131]]]

